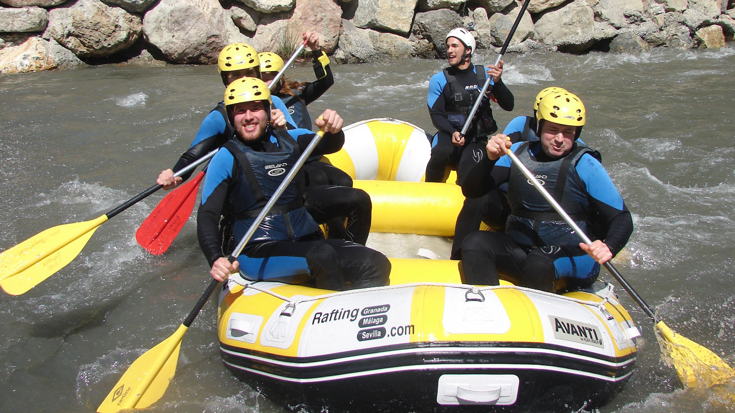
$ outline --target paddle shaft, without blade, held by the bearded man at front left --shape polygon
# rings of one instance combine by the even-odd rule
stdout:
[[[279,184],[279,187],[276,188],[276,192],[273,193],[273,195],[270,196],[270,199],[268,199],[268,202],[265,203],[265,206],[263,206],[263,209],[260,211],[258,216],[255,218],[253,223],[251,224],[250,228],[248,228],[248,231],[245,232],[245,235],[243,235],[243,239],[240,240],[240,243],[237,244],[237,246],[234,248],[234,251],[232,251],[232,254],[228,257],[229,262],[234,262],[235,259],[237,259],[237,256],[240,255],[241,252],[243,252],[243,248],[245,248],[245,244],[248,243],[248,241],[253,237],[253,234],[255,234],[255,231],[260,226],[260,223],[263,222],[265,219],[265,215],[268,215],[268,212],[270,212],[270,209],[273,208],[273,205],[276,204],[276,201],[281,198],[281,195],[283,195],[284,191],[286,190],[286,187],[293,181],[294,176],[296,176],[296,173],[298,173],[299,170],[301,170],[301,167],[304,165],[304,162],[306,162],[306,159],[309,157],[309,155],[312,154],[312,151],[314,151],[314,148],[319,144],[319,141],[324,136],[324,131],[317,132],[316,136],[312,139],[311,142],[309,142],[309,145],[306,146],[306,149],[304,149],[304,153],[301,154],[301,157],[298,157],[298,160],[295,164],[293,164],[293,168],[288,171],[286,174],[286,177],[283,179],[281,184]],[[196,302],[196,306],[191,310],[189,315],[186,317],[186,320],[184,320],[184,326],[189,327],[191,326],[191,323],[194,322],[194,319],[199,314],[199,311],[201,311],[202,307],[204,307],[204,304],[207,303],[207,300],[209,300],[209,295],[212,295],[212,292],[215,292],[215,288],[217,288],[217,284],[219,284],[219,281],[212,279],[212,282],[209,283],[209,287],[207,287],[207,290],[204,291],[204,294],[201,295],[199,298],[199,301]]]

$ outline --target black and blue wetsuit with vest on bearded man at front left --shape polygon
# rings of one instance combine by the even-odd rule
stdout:
[[[301,151],[315,134],[306,129],[268,129],[262,140],[246,145],[231,140],[209,162],[197,217],[199,245],[209,265],[225,256],[220,220],[232,222],[240,240],[262,206],[275,192]],[[325,134],[317,154],[339,150],[344,134]],[[248,279],[295,282],[305,277],[329,290],[387,284],[390,262],[363,245],[345,240],[324,240],[303,204],[297,176],[266,216],[238,257]]]

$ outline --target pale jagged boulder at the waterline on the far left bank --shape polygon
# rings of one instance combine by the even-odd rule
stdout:
[[[46,71],[84,64],[54,40],[41,37],[29,37],[21,44],[0,49],[0,73]]]

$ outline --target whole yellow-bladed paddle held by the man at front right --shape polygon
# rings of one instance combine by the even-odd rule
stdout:
[[[526,168],[526,165],[523,165],[523,162],[520,162],[520,159],[512,151],[508,151],[508,156],[523,175],[526,176],[528,182],[536,187],[539,193],[546,198],[546,201],[553,206],[553,209],[556,209],[556,212],[559,212],[559,215],[562,215],[562,218],[567,221],[567,224],[577,232],[582,241],[587,245],[592,244],[592,240],[589,240],[587,234],[584,234],[584,231],[567,215],[567,212],[562,209],[562,206],[539,184],[537,179],[531,174],[531,171]],[[726,381],[733,380],[735,370],[721,359],[720,356],[717,356],[717,354],[708,348],[672,331],[663,320],[656,317],[653,309],[643,301],[643,298],[638,295],[631,284],[628,284],[628,281],[623,278],[623,275],[617,271],[611,262],[608,261],[604,265],[609,273],[625,288],[625,291],[628,292],[631,298],[643,309],[643,312],[656,324],[656,328],[659,329],[661,336],[664,338],[664,340],[659,341],[661,351],[671,360],[684,387],[700,387],[700,384],[704,384],[705,387],[711,387],[715,384],[723,384]]]

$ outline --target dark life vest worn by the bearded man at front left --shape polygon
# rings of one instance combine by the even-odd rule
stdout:
[[[223,145],[232,153],[241,171],[240,176],[234,177],[234,186],[229,190],[227,211],[236,239],[245,234],[301,155],[298,143],[288,132],[270,130],[281,151],[255,151],[238,140],[229,140]],[[304,208],[303,182],[296,176],[270,209],[250,243],[295,240],[318,230],[319,226]]]

